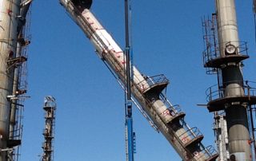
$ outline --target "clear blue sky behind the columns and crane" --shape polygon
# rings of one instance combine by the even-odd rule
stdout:
[[[92,10],[124,48],[124,0],[94,1]],[[237,0],[241,41],[249,42],[245,80],[254,75],[254,21],[250,0]],[[147,75],[170,80],[167,96],[180,104],[186,122],[214,144],[213,116],[196,104],[206,104],[206,88],[217,83],[202,66],[203,15],[214,12],[214,0],[132,1],[134,63]],[[81,29],[58,0],[34,0],[32,42],[28,60],[29,92],[24,115],[22,161],[39,160],[44,128],[43,98],[56,98],[54,159],[56,161],[125,160],[124,92],[94,53]],[[138,161],[181,160],[174,149],[134,109]]]

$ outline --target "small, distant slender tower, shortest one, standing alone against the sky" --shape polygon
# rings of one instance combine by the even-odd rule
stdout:
[[[42,145],[43,155],[42,161],[52,161],[54,159],[54,125],[55,125],[55,110],[56,103],[53,96],[46,96],[43,106],[45,110],[46,127],[43,135],[45,142]]]

